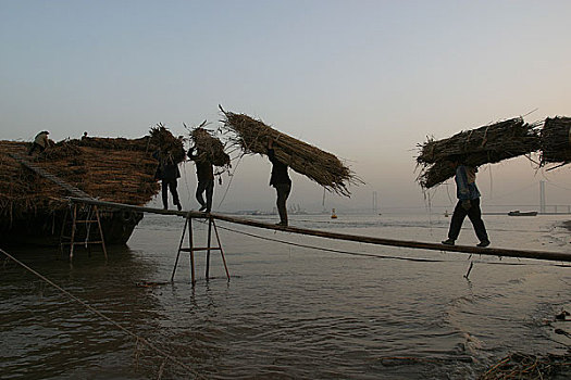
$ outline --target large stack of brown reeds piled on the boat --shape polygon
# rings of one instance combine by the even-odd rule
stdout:
[[[141,139],[84,138],[64,140],[42,153],[27,155],[29,144],[0,141],[0,216],[17,218],[29,213],[52,213],[66,207],[70,194],[37,176],[8,153],[35,165],[65,182],[104,201],[144,205],[159,191],[154,180],[157,160]]]

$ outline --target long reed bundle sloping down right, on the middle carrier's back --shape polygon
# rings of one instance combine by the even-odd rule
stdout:
[[[347,182],[362,183],[335,155],[282,134],[250,116],[225,112],[222,107],[221,111],[225,117],[224,128],[236,135],[231,138],[231,143],[239,147],[246,154],[268,154],[268,141],[273,139],[278,161],[328,191],[350,197]]]

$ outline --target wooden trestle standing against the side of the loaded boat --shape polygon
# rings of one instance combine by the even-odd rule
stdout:
[[[73,207],[71,210],[72,214],[72,220],[67,221],[67,213],[65,213],[63,217],[63,224],[62,224],[62,230],[60,236],[60,250],[63,253],[64,245],[70,245],[70,261],[73,259],[73,252],[75,245],[85,245],[85,248],[89,251],[88,244],[101,244],[101,248],[103,250],[103,254],[107,256],[107,249],[105,249],[105,240],[103,238],[103,229],[101,228],[101,219],[99,218],[99,210],[97,208],[97,205],[89,206],[87,211],[84,211],[84,216],[82,217],[82,211],[78,210],[80,207],[77,203],[73,203]],[[99,232],[99,240],[89,240],[90,232],[91,232],[91,225],[97,224],[97,231]],[[67,232],[66,227],[71,226],[71,230]],[[85,230],[85,240],[84,241],[76,241],[77,238],[77,231],[78,226],[83,226]],[[70,235],[66,235],[70,233]],[[89,251],[90,252],[90,251]]]

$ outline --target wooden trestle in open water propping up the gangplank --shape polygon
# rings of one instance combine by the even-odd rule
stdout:
[[[184,239],[186,231],[188,229],[188,246],[183,246]],[[218,246],[211,246],[211,240],[212,240],[212,229],[214,230],[214,233],[216,236]],[[201,246],[195,246],[194,237],[193,237],[193,217],[190,215],[187,215],[185,218],[185,226],[183,227],[183,233],[181,236],[181,243],[178,244],[178,252],[176,253],[176,261],[174,262],[174,268],[173,268],[173,275],[171,276],[171,282],[174,281],[174,274],[176,271],[176,267],[178,265],[178,258],[181,256],[181,252],[188,252],[190,255],[190,280],[193,283],[193,287],[196,283],[196,276],[195,276],[195,252],[197,251],[207,251],[207,271],[206,271],[206,278],[207,281],[210,276],[210,251],[220,251],[220,254],[222,256],[222,262],[224,263],[224,269],[226,270],[226,278],[229,281],[229,273],[228,267],[226,265],[226,258],[224,257],[224,251],[222,250],[222,244],[220,243],[220,236],[216,228],[216,224],[214,221],[214,218],[210,215],[208,216],[208,242],[206,248]]]

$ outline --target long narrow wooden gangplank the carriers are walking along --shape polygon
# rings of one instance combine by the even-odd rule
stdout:
[[[432,250],[432,251],[447,251],[447,252],[459,252],[468,254],[477,254],[477,255],[488,255],[488,256],[500,256],[500,257],[517,257],[517,258],[535,258],[535,259],[545,259],[553,262],[571,262],[571,253],[562,252],[549,252],[549,251],[530,251],[530,250],[517,250],[517,249],[504,249],[504,248],[480,248],[480,246],[469,246],[469,245],[444,245],[440,243],[427,243],[420,241],[411,240],[397,240],[397,239],[386,239],[386,238],[376,238],[368,237],[360,235],[349,235],[349,233],[339,233],[333,231],[322,231],[308,228],[299,227],[281,227],[269,223],[246,219],[236,216],[223,215],[223,214],[204,214],[196,211],[171,211],[162,208],[152,208],[152,207],[142,207],[135,206],[122,203],[114,202],[103,202],[91,199],[82,199],[82,198],[71,198],[72,202],[87,203],[100,206],[107,206],[111,208],[124,208],[131,211],[137,211],[142,213],[153,213],[162,215],[176,215],[186,218],[212,218],[218,220],[224,220],[227,223],[233,223],[237,225],[278,230],[290,233],[307,235],[320,238],[335,239],[335,240],[345,240],[345,241],[355,241],[360,243],[369,243],[376,245],[387,245],[387,246],[400,246],[409,249],[420,249],[420,250]]]

